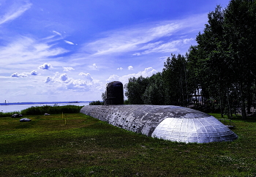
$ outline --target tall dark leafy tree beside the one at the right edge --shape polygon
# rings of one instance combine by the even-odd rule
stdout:
[[[189,69],[192,69],[194,77],[198,79],[197,88],[200,88],[203,96],[203,104],[211,107],[211,110],[219,109],[223,116],[226,99],[226,86],[229,78],[226,66],[224,40],[224,11],[217,6],[215,11],[208,14],[208,24],[203,34],[197,35],[198,45],[189,50]]]

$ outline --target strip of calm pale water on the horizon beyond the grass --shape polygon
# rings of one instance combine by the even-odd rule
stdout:
[[[7,112],[13,112],[13,111],[20,111],[20,110],[25,110],[26,108],[30,108],[32,106],[43,106],[43,105],[54,105],[56,103],[49,103],[49,104],[29,104],[29,105],[0,105],[0,111],[3,113]],[[64,106],[64,105],[78,105],[78,106],[83,106],[83,105],[89,105],[89,102],[79,102],[79,103],[57,103],[59,106]]]

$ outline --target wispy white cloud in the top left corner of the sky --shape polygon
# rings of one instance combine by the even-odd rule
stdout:
[[[0,25],[2,23],[6,23],[7,21],[14,20],[22,15],[26,10],[29,10],[31,7],[31,3],[29,1],[24,1],[25,4],[20,4],[15,1],[10,7],[3,7],[7,8],[7,13],[0,16]]]

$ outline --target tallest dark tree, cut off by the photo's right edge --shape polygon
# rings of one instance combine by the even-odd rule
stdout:
[[[255,94],[256,1],[231,0],[225,10],[225,40],[230,44],[229,66],[238,90],[242,116],[250,112]]]

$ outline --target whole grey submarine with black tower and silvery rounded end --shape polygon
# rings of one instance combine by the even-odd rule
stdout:
[[[123,84],[108,83],[105,105],[87,105],[80,113],[153,138],[184,142],[233,141],[238,136],[217,118],[173,105],[123,105]]]

